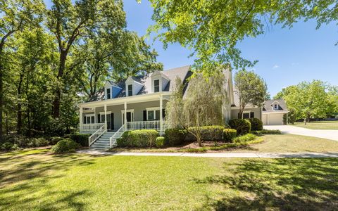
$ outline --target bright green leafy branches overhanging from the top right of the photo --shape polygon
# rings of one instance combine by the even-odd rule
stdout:
[[[156,32],[164,46],[178,42],[193,50],[195,66],[204,72],[225,63],[236,69],[255,61],[242,58],[237,47],[245,37],[257,37],[270,25],[292,27],[301,18],[314,18],[318,27],[338,20],[336,0],[191,1],[150,0]],[[208,68],[209,67],[209,68]]]

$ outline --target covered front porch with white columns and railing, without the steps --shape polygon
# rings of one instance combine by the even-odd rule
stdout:
[[[170,94],[129,96],[80,104],[80,132],[93,134],[106,125],[106,131],[156,129],[164,131],[165,105]]]

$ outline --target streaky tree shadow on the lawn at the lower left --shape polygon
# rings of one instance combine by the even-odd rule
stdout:
[[[89,190],[58,188],[51,185],[62,178],[71,167],[92,165],[88,156],[32,153],[1,158],[0,210],[83,210],[81,198]],[[42,197],[43,196],[43,197]],[[15,208],[16,207],[16,208]]]

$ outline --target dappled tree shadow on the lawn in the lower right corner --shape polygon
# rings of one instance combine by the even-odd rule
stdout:
[[[196,179],[221,186],[200,210],[336,210],[338,159],[298,158],[225,162],[223,175]]]

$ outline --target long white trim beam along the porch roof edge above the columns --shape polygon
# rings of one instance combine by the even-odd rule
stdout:
[[[93,101],[88,103],[80,103],[79,106],[82,108],[96,108],[99,106],[118,106],[123,105],[124,103],[144,103],[148,101],[159,101],[160,97],[163,96],[163,100],[169,100],[170,95],[172,93],[170,91],[162,91],[157,92],[154,94],[142,94],[137,96],[127,96],[122,98],[113,98],[110,100],[104,100],[104,101]]]

